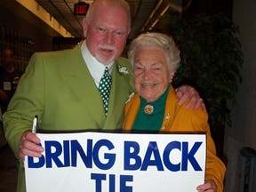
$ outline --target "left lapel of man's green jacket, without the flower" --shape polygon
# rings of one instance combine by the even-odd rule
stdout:
[[[92,118],[91,121],[94,119],[99,124],[99,127],[95,128],[102,128],[106,116],[100,92],[84,62],[80,45],[71,51],[69,62],[70,68],[64,70],[67,84],[73,89],[73,93],[81,101],[81,105],[84,105],[84,108],[91,113],[88,118]]]

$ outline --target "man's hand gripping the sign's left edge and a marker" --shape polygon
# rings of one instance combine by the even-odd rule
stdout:
[[[32,132],[24,132],[19,144],[20,158],[25,159],[25,156],[41,157],[44,148],[38,146],[40,139]]]

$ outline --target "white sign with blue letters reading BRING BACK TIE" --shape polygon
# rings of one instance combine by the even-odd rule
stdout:
[[[184,192],[204,183],[204,134],[36,134],[28,192]]]

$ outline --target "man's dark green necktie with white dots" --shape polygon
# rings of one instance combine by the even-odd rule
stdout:
[[[100,85],[99,85],[99,91],[100,91],[101,98],[103,100],[103,106],[105,109],[106,116],[108,115],[108,99],[109,99],[111,84],[112,84],[112,79],[111,79],[111,76],[108,74],[108,67],[106,67],[104,74],[100,79]]]

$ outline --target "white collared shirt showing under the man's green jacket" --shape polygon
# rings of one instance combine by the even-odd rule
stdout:
[[[97,87],[99,87],[100,84],[100,78],[104,74],[104,70],[106,67],[108,67],[109,74],[112,74],[113,68],[114,68],[114,61],[109,63],[108,65],[104,65],[100,63],[98,60],[96,60],[89,49],[86,46],[85,41],[81,45],[81,51],[83,58],[85,60],[85,64],[87,68],[89,69],[91,76],[96,84]]]

